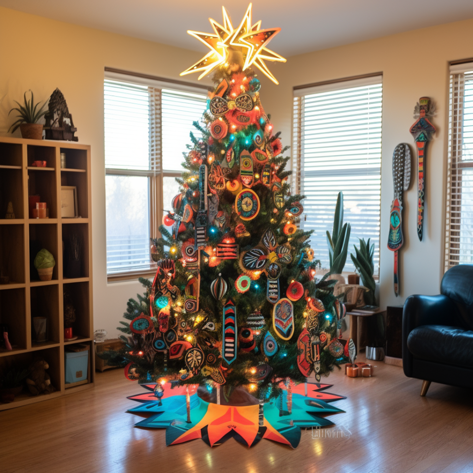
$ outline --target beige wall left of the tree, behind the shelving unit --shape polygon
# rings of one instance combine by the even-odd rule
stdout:
[[[0,134],[7,135],[14,121],[13,114],[7,117],[13,100],[21,101],[28,89],[36,100],[45,100],[59,87],[79,142],[92,146],[94,326],[109,336],[117,334],[128,299],[143,288],[138,282],[107,284],[106,280],[103,69],[178,78],[198,59],[196,52],[0,7],[0,98],[7,94],[0,104]],[[16,135],[20,136],[19,130]]]

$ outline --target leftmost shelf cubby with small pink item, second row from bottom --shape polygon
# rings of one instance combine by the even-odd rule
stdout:
[[[25,289],[6,289],[0,291],[0,324],[8,326],[8,341],[12,350],[0,343],[0,356],[25,350],[26,341],[26,300]],[[2,335],[2,334],[0,334]]]

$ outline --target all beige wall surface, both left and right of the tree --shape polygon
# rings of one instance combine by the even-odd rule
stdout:
[[[20,34],[19,28],[28,35]],[[177,78],[199,57],[192,51],[0,8],[0,97],[7,93],[0,104],[0,134],[6,135],[12,121],[6,115],[13,99],[20,99],[30,88],[38,99],[46,99],[59,87],[73,113],[80,142],[92,145],[94,319],[95,328],[104,328],[110,335],[116,333],[127,300],[141,292],[141,286],[136,282],[106,282],[103,68]],[[294,56],[286,64],[271,65],[279,86],[262,79],[265,109],[272,115],[275,129],[283,132],[283,142],[289,144],[294,85],[383,72],[382,306],[403,304],[410,294],[439,292],[443,274],[448,62],[471,57],[473,20],[466,20]],[[195,79],[188,76],[187,80]],[[409,127],[414,121],[413,107],[423,95],[434,99],[438,108],[433,120],[438,132],[427,156],[424,241],[419,242],[416,236],[416,183],[412,182],[404,203],[401,296],[395,298],[393,254],[386,248],[393,196],[392,152],[400,142],[412,144]]]

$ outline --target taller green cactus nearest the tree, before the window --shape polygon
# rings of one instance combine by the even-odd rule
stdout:
[[[350,224],[343,225],[343,193],[339,192],[335,207],[334,230],[330,236],[327,230],[327,244],[329,247],[330,274],[340,274],[346,263],[348,254],[348,240],[350,239]]]

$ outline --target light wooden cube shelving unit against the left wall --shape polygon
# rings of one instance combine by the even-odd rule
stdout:
[[[61,153],[66,153],[67,168],[62,169]],[[8,324],[13,350],[0,347],[0,375],[9,367],[27,368],[36,358],[49,364],[47,372],[56,388],[52,394],[31,396],[26,388],[0,410],[69,394],[94,385],[94,326],[92,309],[92,222],[90,146],[70,141],[32,140],[0,137],[0,323]],[[46,161],[45,168],[32,166]],[[61,186],[77,188],[78,218],[61,217]],[[28,196],[39,195],[46,202],[49,218],[30,219]],[[5,219],[12,202],[14,219]],[[77,234],[82,240],[81,273],[65,277],[65,250],[68,238]],[[40,281],[33,266],[34,245],[46,248],[56,260],[50,281]],[[39,248],[39,249],[40,249]],[[31,254],[30,254],[31,253]],[[73,335],[64,339],[64,293],[75,308]],[[37,343],[33,317],[47,318],[48,341]],[[69,344],[89,345],[87,383],[65,384],[65,349]]]

